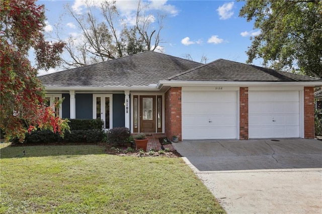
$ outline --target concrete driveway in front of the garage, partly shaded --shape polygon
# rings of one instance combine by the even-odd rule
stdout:
[[[322,213],[322,141],[173,145],[228,213]]]

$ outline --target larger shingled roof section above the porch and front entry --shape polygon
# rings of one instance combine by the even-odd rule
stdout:
[[[202,63],[147,51],[39,76],[44,86],[148,86]]]

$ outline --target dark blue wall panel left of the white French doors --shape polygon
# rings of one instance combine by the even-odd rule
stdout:
[[[93,119],[93,94],[76,93],[76,119]]]

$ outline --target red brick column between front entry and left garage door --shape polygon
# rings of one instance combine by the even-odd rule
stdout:
[[[165,94],[166,136],[177,135],[182,140],[181,87],[171,87]]]

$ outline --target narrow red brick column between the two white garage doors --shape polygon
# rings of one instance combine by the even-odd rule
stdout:
[[[248,139],[248,87],[239,87],[239,140]]]

